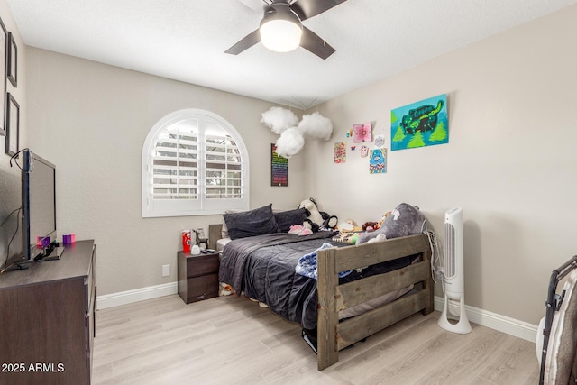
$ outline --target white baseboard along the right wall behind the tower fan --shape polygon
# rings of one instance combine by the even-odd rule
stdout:
[[[435,310],[442,312],[443,307],[444,298],[435,296]],[[508,316],[501,316],[469,305],[465,305],[465,311],[467,312],[469,321],[473,324],[490,327],[491,329],[522,338],[532,343],[536,340],[536,325],[527,324],[527,322],[509,318]]]

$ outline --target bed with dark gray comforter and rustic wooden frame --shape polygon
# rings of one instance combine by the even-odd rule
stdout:
[[[216,247],[221,226],[209,226],[211,248]],[[345,347],[419,311],[425,315],[433,311],[431,245],[426,234],[361,245],[336,243],[332,240],[334,234],[329,232],[288,235],[291,234],[259,234],[227,243],[221,255],[219,280],[304,328],[316,325],[319,371],[338,362],[338,353]],[[340,247],[319,247],[324,243]],[[290,274],[295,270],[296,255],[313,251],[316,280],[298,274],[283,275],[282,271]],[[279,266],[271,268],[270,261],[279,262]],[[362,269],[362,274],[355,274],[357,269]],[[369,270],[371,273],[366,273]],[[339,278],[345,271],[351,273]],[[268,291],[278,282],[290,280],[296,285],[289,286],[289,294]],[[396,299],[386,304],[343,317],[350,309],[391,292],[405,293],[408,288],[407,294],[399,298],[394,295]]]

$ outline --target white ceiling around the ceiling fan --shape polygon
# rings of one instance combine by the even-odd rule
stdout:
[[[224,53],[260,0],[7,0],[23,41],[164,78],[307,108],[577,0],[348,0],[303,22],[331,44]],[[270,2],[270,0],[269,0]]]

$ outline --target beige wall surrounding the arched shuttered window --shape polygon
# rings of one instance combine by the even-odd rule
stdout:
[[[142,144],[164,115],[200,108],[233,124],[249,151],[251,207],[293,208],[305,197],[304,157],[289,160],[288,188],[270,187],[268,102],[35,48],[27,69],[30,147],[57,165],[59,233],[96,239],[99,295],[175,281],[180,230],[207,234],[222,221],[142,218]]]

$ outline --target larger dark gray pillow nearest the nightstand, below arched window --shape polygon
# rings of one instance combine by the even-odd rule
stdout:
[[[272,234],[279,231],[279,226],[272,215],[272,204],[241,213],[224,214],[223,216],[231,239]]]

